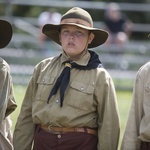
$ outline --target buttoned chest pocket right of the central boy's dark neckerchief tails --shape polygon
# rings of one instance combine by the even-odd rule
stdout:
[[[94,87],[92,85],[73,81],[70,84],[66,103],[77,109],[91,110],[93,106],[93,92]]]

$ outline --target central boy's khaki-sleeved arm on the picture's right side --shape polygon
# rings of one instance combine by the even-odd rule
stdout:
[[[116,92],[111,77],[105,72],[99,77],[98,101],[98,150],[117,150],[120,120]]]

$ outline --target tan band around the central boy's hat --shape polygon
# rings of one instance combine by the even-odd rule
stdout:
[[[86,27],[92,27],[92,25],[82,19],[74,19],[74,18],[69,18],[69,19],[63,19],[61,22],[61,24],[77,24],[77,25],[83,25]]]

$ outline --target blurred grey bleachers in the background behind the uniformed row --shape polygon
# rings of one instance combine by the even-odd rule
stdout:
[[[128,40],[122,45],[107,43],[93,50],[99,54],[104,67],[112,75],[116,88],[132,90],[136,71],[149,61],[150,0],[132,3],[130,0],[0,0],[0,18],[11,22],[14,31],[7,48],[0,51],[0,56],[10,64],[13,82],[27,85],[34,66],[40,60],[61,52],[58,45],[40,37],[41,27],[47,23],[44,12],[57,13],[52,23],[58,23],[59,15],[71,7],[79,6],[89,11],[94,27],[108,29],[105,24],[106,9],[112,2],[132,23]]]

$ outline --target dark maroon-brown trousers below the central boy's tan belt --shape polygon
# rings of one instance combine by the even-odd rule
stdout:
[[[49,133],[39,127],[34,136],[34,150],[97,150],[97,136],[88,133]]]

